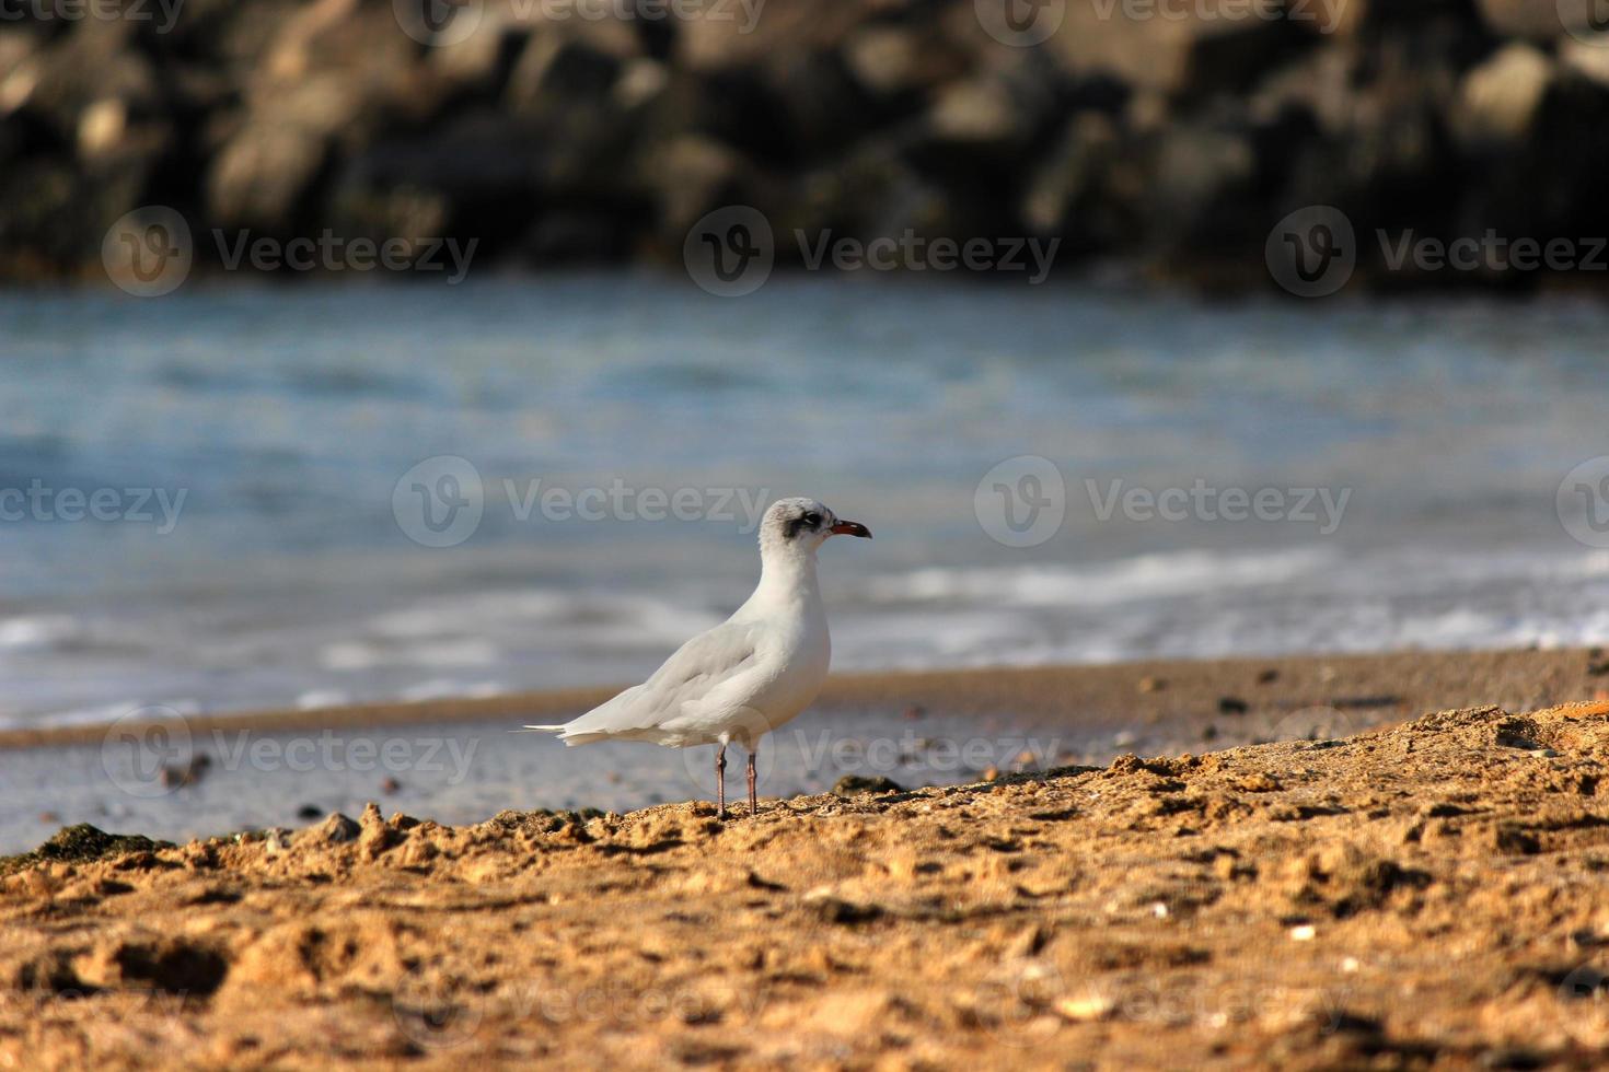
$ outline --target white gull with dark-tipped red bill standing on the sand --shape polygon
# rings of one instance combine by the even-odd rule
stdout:
[[[732,617],[693,636],[642,685],[555,726],[566,746],[648,741],[666,747],[718,744],[718,815],[726,818],[726,746],[748,752],[748,813],[759,738],[809,707],[827,678],[832,641],[816,585],[816,550],[833,535],[870,538],[814,498],[780,498],[759,521],[759,585]]]

